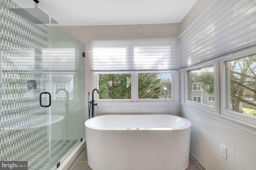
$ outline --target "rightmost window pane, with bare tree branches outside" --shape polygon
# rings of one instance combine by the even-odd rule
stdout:
[[[225,109],[256,117],[256,54],[225,62]]]

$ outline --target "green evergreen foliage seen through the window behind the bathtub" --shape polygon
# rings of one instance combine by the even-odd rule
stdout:
[[[158,73],[138,75],[139,99],[159,99],[161,78]],[[131,99],[130,74],[99,74],[99,99]]]

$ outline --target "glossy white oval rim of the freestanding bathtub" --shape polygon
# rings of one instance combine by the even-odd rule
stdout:
[[[183,126],[180,127],[163,127],[163,128],[150,128],[150,127],[125,127],[125,128],[102,128],[102,127],[96,127],[93,126],[90,122],[93,121],[94,119],[99,119],[100,117],[107,117],[107,116],[136,116],[136,115],[144,115],[144,116],[149,116],[149,115],[157,115],[157,116],[170,116],[170,117],[174,117],[176,119],[181,119],[185,122],[185,124]],[[186,128],[190,128],[191,127],[191,123],[190,121],[188,121],[187,119],[183,118],[183,117],[179,117],[179,116],[175,116],[175,115],[168,115],[168,114],[108,114],[108,115],[100,115],[97,117],[93,117],[88,119],[85,123],[85,127],[86,128],[91,128],[94,130],[182,130],[182,129],[186,129]]]

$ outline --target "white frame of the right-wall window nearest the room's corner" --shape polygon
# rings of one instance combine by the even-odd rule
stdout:
[[[195,70],[195,69],[200,69],[200,68],[204,68],[204,67],[210,67],[213,66],[214,68],[214,106],[211,105],[206,105],[204,103],[198,103],[195,101],[191,101],[189,99],[189,95],[188,95],[188,88],[191,89],[191,84],[189,84],[189,77],[188,77],[188,72]],[[184,97],[185,97],[185,103],[192,106],[192,107],[197,107],[197,108],[201,108],[207,111],[210,111],[214,114],[219,114],[220,113],[220,104],[217,102],[219,101],[218,98],[220,96],[220,88],[219,88],[219,61],[211,61],[211,62],[205,62],[202,64],[198,64],[196,66],[192,66],[192,67],[188,67],[184,70],[184,74],[185,74],[185,93],[184,93]],[[202,90],[202,89],[201,89]],[[201,97],[202,100],[202,97]]]

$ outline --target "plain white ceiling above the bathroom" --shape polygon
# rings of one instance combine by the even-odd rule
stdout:
[[[22,0],[13,1],[28,8],[19,4]],[[39,8],[62,26],[90,26],[180,23],[198,0],[39,1]]]

